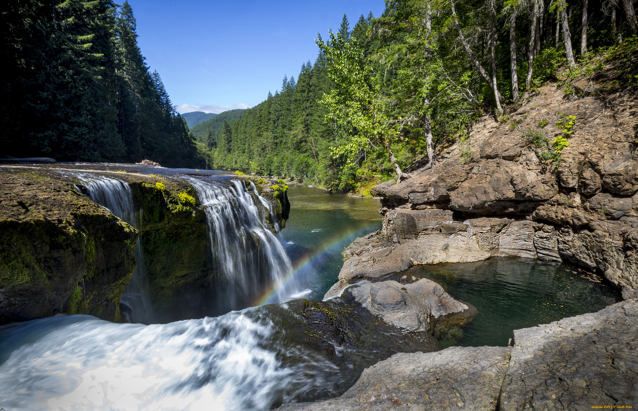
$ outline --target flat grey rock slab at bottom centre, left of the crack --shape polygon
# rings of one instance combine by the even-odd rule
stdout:
[[[282,405],[279,410],[385,411],[494,409],[510,347],[450,347],[394,354],[363,371],[339,398]]]

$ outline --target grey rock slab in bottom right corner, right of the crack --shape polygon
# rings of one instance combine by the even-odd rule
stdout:
[[[636,407],[638,303],[514,331],[500,402],[503,411]]]

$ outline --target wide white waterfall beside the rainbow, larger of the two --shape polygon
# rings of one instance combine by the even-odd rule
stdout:
[[[195,187],[207,215],[214,265],[218,268],[216,311],[239,310],[259,303],[263,292],[272,289],[269,303],[286,301],[293,292],[285,280],[292,264],[278,238],[265,226],[255,197],[271,213],[272,205],[248,190],[243,180],[231,180],[228,187],[193,177],[184,177]]]

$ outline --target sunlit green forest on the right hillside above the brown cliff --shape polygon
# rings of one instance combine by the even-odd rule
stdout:
[[[575,80],[611,68],[615,80],[597,92],[635,89],[635,33],[630,0],[387,2],[381,17],[350,30],[344,16],[318,39],[315,63],[228,124],[211,159],[367,193],[445,146],[462,145],[469,161],[474,122],[489,112],[507,122],[544,83],[577,98],[588,91]],[[558,134],[546,154],[557,163],[569,138]]]

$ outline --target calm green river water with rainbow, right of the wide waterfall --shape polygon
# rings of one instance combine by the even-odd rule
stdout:
[[[323,299],[337,282],[343,250],[355,238],[381,228],[380,201],[327,194],[299,184],[288,187],[290,219],[281,238],[300,287],[294,297]]]

